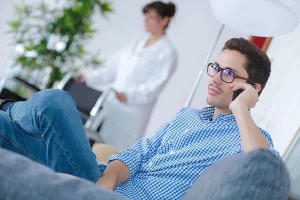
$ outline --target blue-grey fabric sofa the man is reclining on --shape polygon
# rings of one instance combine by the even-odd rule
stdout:
[[[289,182],[283,162],[267,149],[256,149],[213,163],[182,199],[287,199]],[[0,148],[0,199],[124,198]]]

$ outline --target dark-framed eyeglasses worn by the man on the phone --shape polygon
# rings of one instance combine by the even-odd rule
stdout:
[[[234,78],[240,78],[243,80],[248,80],[250,82],[256,83],[253,80],[250,80],[248,78],[244,78],[242,76],[237,75],[236,73],[234,73],[233,71],[229,70],[229,69],[225,69],[225,68],[221,68],[216,64],[213,63],[209,63],[207,65],[207,74],[210,76],[215,76],[215,74],[217,74],[219,71],[221,71],[221,79],[224,82],[230,83],[234,80]]]

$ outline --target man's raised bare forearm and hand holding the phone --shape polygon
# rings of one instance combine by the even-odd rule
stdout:
[[[259,147],[268,148],[270,146],[269,143],[254,123],[248,111],[258,101],[257,92],[261,88],[260,85],[258,85],[257,89],[254,89],[250,84],[235,82],[230,84],[230,88],[233,91],[244,89],[229,105],[229,109],[234,115],[238,126],[243,152],[248,152]]]

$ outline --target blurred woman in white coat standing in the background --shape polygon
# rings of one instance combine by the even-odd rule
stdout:
[[[106,114],[100,136],[105,143],[121,149],[143,136],[155,101],[177,66],[176,51],[165,35],[175,5],[155,1],[142,11],[150,35],[119,49],[104,68],[76,78],[88,84],[112,83],[117,93],[103,105]]]

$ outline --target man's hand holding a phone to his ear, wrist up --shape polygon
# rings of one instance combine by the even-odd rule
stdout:
[[[258,89],[245,82],[233,82],[229,87],[236,91],[243,89],[242,91],[230,104],[229,109],[233,113],[237,109],[249,110],[255,107],[258,101]]]

